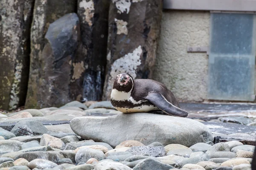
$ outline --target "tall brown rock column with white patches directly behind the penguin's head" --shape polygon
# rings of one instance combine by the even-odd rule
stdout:
[[[103,100],[110,100],[119,73],[127,72],[134,79],[152,78],[162,11],[162,0],[111,1]]]

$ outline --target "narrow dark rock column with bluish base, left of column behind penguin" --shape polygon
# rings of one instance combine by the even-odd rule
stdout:
[[[110,2],[110,0],[77,1],[77,14],[81,21],[81,42],[74,68],[80,69],[80,72],[74,75],[72,80],[77,84],[76,89],[82,91],[81,99],[102,99]]]

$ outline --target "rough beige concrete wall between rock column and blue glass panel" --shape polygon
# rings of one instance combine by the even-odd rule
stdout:
[[[164,11],[154,79],[179,101],[207,99],[207,53],[188,53],[187,46],[209,46],[209,11]]]

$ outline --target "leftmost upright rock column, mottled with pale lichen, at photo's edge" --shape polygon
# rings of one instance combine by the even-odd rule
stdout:
[[[29,75],[29,30],[35,0],[1,0],[0,108],[23,106]]]

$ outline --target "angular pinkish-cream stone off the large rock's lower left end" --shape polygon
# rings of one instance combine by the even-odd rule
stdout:
[[[41,146],[50,146],[53,148],[60,149],[62,147],[65,147],[64,142],[62,142],[61,139],[50,136],[48,134],[44,134],[40,141]]]

